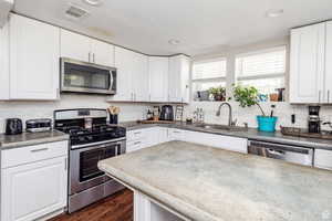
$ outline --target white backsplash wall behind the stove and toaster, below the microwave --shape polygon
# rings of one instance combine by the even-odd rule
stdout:
[[[4,119],[19,117],[23,120],[31,118],[53,118],[54,109],[62,108],[106,108],[111,105],[120,106],[121,122],[142,119],[146,113],[146,105],[143,104],[118,104],[106,103],[106,96],[97,95],[61,95],[58,102],[0,102],[0,133],[4,131]]]

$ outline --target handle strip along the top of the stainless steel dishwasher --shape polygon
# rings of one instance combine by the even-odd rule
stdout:
[[[292,151],[292,152],[299,152],[299,154],[305,154],[310,155],[313,151],[313,148],[304,148],[304,147],[298,147],[298,146],[291,146],[291,145],[281,145],[276,143],[266,143],[266,141],[257,141],[257,140],[249,140],[249,146],[255,147],[263,147],[269,150],[280,150],[280,151]],[[281,152],[279,152],[281,154]]]

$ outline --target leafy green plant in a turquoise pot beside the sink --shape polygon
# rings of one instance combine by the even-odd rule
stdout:
[[[239,102],[241,107],[250,107],[257,105],[261,115],[257,116],[258,129],[261,131],[274,131],[278,117],[267,116],[259,104],[259,93],[253,86],[234,86],[234,98]],[[272,115],[272,114],[271,114]]]

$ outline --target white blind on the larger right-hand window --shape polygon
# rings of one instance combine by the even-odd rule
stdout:
[[[238,77],[284,74],[286,46],[236,57]]]

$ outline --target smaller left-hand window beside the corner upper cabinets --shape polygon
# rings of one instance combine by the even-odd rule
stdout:
[[[226,59],[217,59],[194,63],[194,97],[197,97],[197,92],[207,91],[210,87],[226,86]]]

